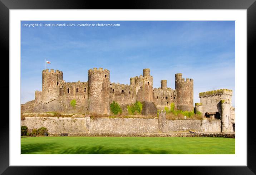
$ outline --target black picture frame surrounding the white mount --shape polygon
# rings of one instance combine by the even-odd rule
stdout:
[[[255,0],[130,0],[121,1],[87,1],[87,0],[0,0],[0,43],[1,43],[1,58],[3,67],[9,65],[9,10],[10,9],[247,9],[247,96],[250,93],[250,99],[255,99],[256,89],[253,85],[255,75],[253,72],[255,66],[250,63],[255,56],[255,42],[256,42],[256,2]],[[251,58],[251,59],[250,59]],[[3,68],[2,67],[2,68]],[[7,71],[5,71],[7,72]],[[0,89],[1,91],[9,92],[9,77],[1,76]],[[8,83],[7,83],[8,82]],[[251,82],[251,83],[250,83]],[[11,92],[9,92],[10,94]],[[7,95],[7,93],[5,93]],[[7,99],[8,97],[6,97]],[[247,98],[249,99],[249,98]],[[9,104],[11,105],[11,104]],[[247,102],[247,109],[253,109],[253,103]],[[7,109],[7,103],[3,104]],[[9,107],[9,106],[8,106]],[[249,110],[251,111],[251,110]],[[179,171],[178,174],[256,174],[256,139],[254,134],[255,117],[254,113],[247,117],[247,111],[244,116],[237,116],[247,118],[247,166],[190,166],[190,167],[166,167],[161,170],[164,171]],[[11,116],[9,116],[11,117]],[[14,116],[13,116],[14,117]],[[24,166],[9,166],[9,118],[6,115],[1,116],[0,127],[0,174],[53,174],[54,170],[58,169],[58,174],[64,172],[65,174],[73,172],[72,167],[24,167]],[[78,173],[82,167],[76,167]],[[98,170],[93,167],[86,167],[86,171]],[[119,174],[117,169],[109,171],[110,167],[104,167],[102,170],[105,173]],[[82,170],[84,171],[84,170]],[[152,168],[144,168],[143,174],[152,173]],[[125,167],[122,174],[134,173],[133,167]]]

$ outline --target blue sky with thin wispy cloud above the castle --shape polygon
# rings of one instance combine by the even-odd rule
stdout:
[[[35,26],[25,24],[75,24]],[[77,24],[120,26],[77,26]],[[63,71],[66,82],[88,81],[88,70],[110,70],[110,81],[151,69],[153,86],[175,88],[175,73],[194,80],[199,92],[232,89],[235,106],[235,21],[21,21],[21,103],[42,89],[42,70]]]

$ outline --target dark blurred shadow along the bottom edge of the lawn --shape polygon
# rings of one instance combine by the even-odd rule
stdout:
[[[182,154],[151,148],[107,148],[103,145],[61,148],[55,143],[21,146],[21,154]]]

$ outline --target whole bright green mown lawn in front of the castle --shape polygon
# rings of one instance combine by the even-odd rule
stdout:
[[[222,137],[24,137],[21,154],[235,154]]]

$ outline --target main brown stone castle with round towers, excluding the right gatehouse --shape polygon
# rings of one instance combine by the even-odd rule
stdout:
[[[194,110],[193,79],[184,79],[181,73],[175,74],[175,89],[167,87],[167,80],[161,80],[161,88],[153,88],[150,69],[131,77],[129,85],[110,82],[109,70],[103,68],[90,69],[87,82],[65,82],[63,72],[58,70],[46,69],[42,75],[42,91],[35,91],[34,112],[54,111],[50,104],[60,98],[65,105],[76,99],[85,111],[100,114],[109,114],[109,104],[113,101],[121,105],[149,102],[160,109],[174,103],[177,109]]]

